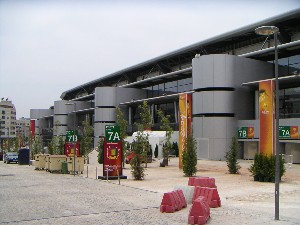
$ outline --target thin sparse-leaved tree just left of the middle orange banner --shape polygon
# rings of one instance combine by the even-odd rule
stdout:
[[[168,165],[168,159],[169,159],[169,153],[172,149],[172,143],[171,143],[171,136],[173,133],[173,129],[170,126],[170,115],[165,115],[163,111],[158,110],[157,111],[158,116],[160,117],[161,126],[160,129],[166,131],[166,140],[163,147],[163,164],[165,166]]]

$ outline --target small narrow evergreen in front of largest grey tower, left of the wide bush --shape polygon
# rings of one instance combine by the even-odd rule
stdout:
[[[239,163],[237,161],[237,154],[239,150],[239,143],[235,136],[231,139],[231,145],[229,151],[226,152],[225,159],[227,162],[228,171],[230,174],[237,174],[239,173]]]

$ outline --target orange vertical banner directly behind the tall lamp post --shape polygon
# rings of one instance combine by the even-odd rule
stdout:
[[[259,82],[259,149],[261,153],[267,155],[274,153],[274,89],[274,81]]]

